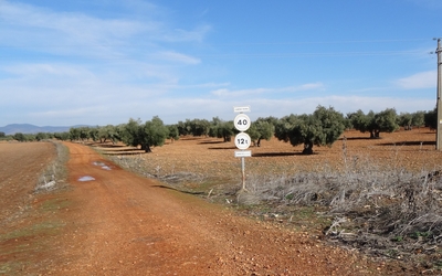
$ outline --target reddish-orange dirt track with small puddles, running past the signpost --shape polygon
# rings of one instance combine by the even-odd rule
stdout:
[[[66,144],[70,202],[57,211],[48,274],[63,275],[365,275],[361,256],[324,246],[307,233],[239,217],[167,189]],[[105,170],[98,163],[105,163]],[[95,163],[95,164],[94,164]],[[94,181],[78,181],[82,177]],[[48,253],[49,254],[49,253]]]

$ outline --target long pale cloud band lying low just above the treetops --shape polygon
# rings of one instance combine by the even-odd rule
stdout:
[[[130,89],[126,87],[126,89]],[[112,92],[113,94],[113,92]],[[131,96],[140,95],[140,92],[131,94]],[[252,112],[249,114],[252,120],[257,117],[274,116],[281,118],[290,114],[312,114],[318,105],[332,106],[335,110],[346,115],[347,113],[362,109],[365,113],[369,110],[380,112],[386,108],[396,108],[397,112],[417,112],[428,110],[434,105],[434,100],[429,99],[410,99],[400,97],[359,97],[359,96],[325,96],[325,97],[306,97],[299,99],[272,99],[263,97],[252,97],[245,100],[236,98],[194,98],[186,95],[165,96],[161,94],[146,95],[146,100],[151,100],[155,105],[148,105],[141,98],[131,98],[124,102],[99,100],[105,94],[96,95],[91,102],[76,102],[69,107],[60,108],[53,105],[40,109],[31,109],[29,115],[39,121],[53,121],[53,125],[76,125],[84,124],[87,118],[94,118],[97,125],[122,124],[133,118],[148,120],[152,116],[159,116],[165,124],[176,124],[187,118],[193,119],[212,119],[220,117],[224,120],[234,118],[234,106],[251,106]],[[129,98],[130,98],[129,97]],[[17,116],[22,116],[23,113]],[[28,121],[35,124],[34,121]]]

